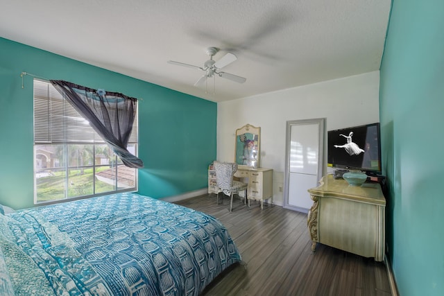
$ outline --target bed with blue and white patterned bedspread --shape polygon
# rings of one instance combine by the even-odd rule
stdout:
[[[199,295],[241,261],[216,218],[136,193],[5,209],[0,295]]]

